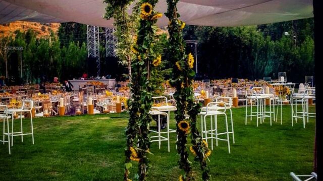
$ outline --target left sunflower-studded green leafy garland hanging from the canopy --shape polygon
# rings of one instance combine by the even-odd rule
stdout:
[[[149,110],[153,104],[152,92],[155,85],[151,79],[152,70],[161,63],[161,50],[157,44],[155,23],[160,13],[153,10],[157,0],[142,0],[140,4],[140,21],[136,44],[132,47],[137,55],[136,61],[132,63],[131,93],[132,101],[129,102],[128,128],[136,130],[136,141],[138,148],[131,147],[127,152],[130,159],[138,161],[138,179],[146,180],[149,170],[147,153],[149,152],[150,139],[148,124],[151,121]],[[135,128],[136,126],[136,128]],[[129,130],[129,134],[134,130]],[[128,135],[127,135],[128,136]],[[133,138],[133,135],[129,135]],[[128,168],[130,166],[128,165]],[[125,179],[129,180],[128,175]]]

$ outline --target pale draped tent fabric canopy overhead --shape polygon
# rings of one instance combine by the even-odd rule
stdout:
[[[113,27],[113,19],[102,18],[104,8],[102,0],[0,0],[0,24],[22,20]],[[159,0],[155,10],[165,13],[166,0]],[[310,18],[313,5],[312,0],[181,0],[178,12],[188,25],[232,27]],[[167,26],[168,19],[157,24]]]

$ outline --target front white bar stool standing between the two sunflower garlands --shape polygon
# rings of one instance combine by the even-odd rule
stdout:
[[[157,133],[157,136],[150,136],[150,138],[157,138],[154,140],[150,140],[150,142],[158,142],[158,147],[160,149],[161,141],[167,141],[168,142],[168,152],[170,152],[170,122],[169,122],[169,115],[165,112],[160,112],[160,111],[149,111],[150,115],[157,115],[158,120],[157,120],[157,131],[150,130],[150,123],[148,130],[153,133]],[[160,115],[166,116],[167,120],[167,131],[162,132],[160,127],[161,127],[161,120],[160,120]],[[161,134],[167,134],[167,137],[161,136]]]

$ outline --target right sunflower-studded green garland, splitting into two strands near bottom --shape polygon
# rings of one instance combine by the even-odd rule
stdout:
[[[185,43],[182,36],[182,30],[185,23],[178,20],[180,15],[177,13],[177,3],[179,0],[167,0],[168,11],[166,16],[169,18],[168,32],[170,34],[168,46],[168,58],[173,63],[173,74],[170,84],[176,87],[174,99],[176,100],[177,111],[175,119],[177,121],[177,151],[180,154],[179,166],[184,170],[179,180],[193,180],[192,168],[188,159],[187,136],[191,127],[192,146],[190,151],[194,154],[194,160],[200,162],[202,169],[202,179],[209,180],[208,168],[206,167],[206,158],[211,151],[207,148],[206,142],[196,127],[197,114],[200,105],[194,102],[194,92],[192,82],[195,75],[193,71],[194,58],[192,54],[185,54]],[[190,117],[189,122],[185,121],[185,113]]]

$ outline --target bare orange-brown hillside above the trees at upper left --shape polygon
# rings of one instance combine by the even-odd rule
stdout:
[[[37,38],[46,37],[49,35],[50,30],[57,33],[60,23],[34,23],[25,21],[16,21],[5,25],[0,25],[0,37],[10,36],[16,30],[27,31],[32,29],[37,33]]]

